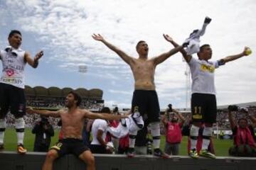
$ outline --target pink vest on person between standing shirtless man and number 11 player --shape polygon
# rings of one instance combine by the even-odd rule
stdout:
[[[182,139],[180,123],[168,122],[166,125],[166,142],[180,143]]]

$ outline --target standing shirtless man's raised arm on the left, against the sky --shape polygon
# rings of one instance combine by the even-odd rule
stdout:
[[[110,50],[114,51],[117,53],[117,55],[119,55],[119,57],[122,58],[122,60],[124,60],[124,62],[126,62],[127,64],[131,64],[132,63],[132,57],[129,57],[125,52],[123,52],[122,50],[120,50],[118,47],[115,47],[114,45],[110,44],[110,42],[107,42],[102,35],[100,34],[93,34],[92,38],[98,41],[103,42],[103,44],[105,44],[107,47],[110,48]]]

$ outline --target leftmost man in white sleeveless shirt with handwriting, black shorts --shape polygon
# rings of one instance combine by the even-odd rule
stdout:
[[[38,67],[38,60],[43,56],[43,51],[38,52],[32,59],[28,52],[21,50],[22,35],[18,30],[11,30],[8,40],[9,46],[0,51],[0,59],[3,64],[0,79],[0,151],[4,149],[5,117],[10,108],[15,117],[17,152],[25,154],[26,149],[23,147],[25,126],[23,115],[26,114],[24,67],[26,63],[33,68]]]

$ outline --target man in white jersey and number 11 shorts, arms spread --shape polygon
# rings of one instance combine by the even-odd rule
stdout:
[[[164,35],[167,41],[171,42],[174,47],[178,46],[169,35]],[[215,84],[214,72],[219,66],[224,65],[226,62],[237,60],[247,54],[249,48],[245,47],[243,52],[238,55],[230,55],[221,60],[210,62],[212,57],[212,50],[210,45],[202,45],[200,51],[197,53],[198,59],[193,58],[191,55],[186,55],[185,50],[181,53],[191,69],[192,77],[192,96],[191,96],[191,112],[193,125],[191,126],[191,150],[189,156],[192,158],[202,157],[215,158],[214,154],[207,151],[210,143],[210,137],[213,133],[213,123],[216,122],[217,104],[215,98]],[[203,146],[199,153],[196,152],[196,142],[198,138],[198,130],[201,123],[205,124],[203,129]]]

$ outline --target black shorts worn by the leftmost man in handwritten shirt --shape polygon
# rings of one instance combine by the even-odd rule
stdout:
[[[3,118],[11,110],[16,118],[26,114],[26,98],[24,89],[10,84],[0,83],[0,117]]]

